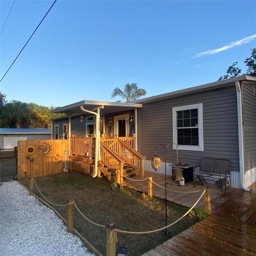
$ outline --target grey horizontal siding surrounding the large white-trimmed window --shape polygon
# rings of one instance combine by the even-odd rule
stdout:
[[[138,110],[138,151],[151,159],[158,143],[172,143],[172,108],[203,103],[204,151],[179,150],[181,162],[199,165],[202,157],[227,158],[239,171],[237,98],[235,86],[143,103]],[[157,154],[163,157],[163,148]],[[167,150],[167,162],[176,163],[176,151]]]

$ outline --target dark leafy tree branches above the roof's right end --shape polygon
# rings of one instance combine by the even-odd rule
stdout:
[[[244,63],[247,67],[246,74],[251,76],[256,76],[256,48],[251,49],[252,53],[249,58],[246,58]],[[229,66],[227,69],[227,74],[219,78],[220,80],[225,80],[228,78],[233,78],[241,75],[242,70],[238,68],[238,62],[234,62],[233,65]]]

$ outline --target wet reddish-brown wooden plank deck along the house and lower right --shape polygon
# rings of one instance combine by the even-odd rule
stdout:
[[[146,177],[164,187],[164,175],[146,172]],[[141,177],[134,177],[141,179]],[[147,192],[147,181],[124,180],[125,186]],[[186,187],[175,186],[167,176],[167,188],[177,191],[202,189],[201,185],[189,183]],[[251,188],[255,191],[256,183]],[[256,194],[242,189],[229,188],[225,193],[210,187],[212,215],[177,236],[169,239],[143,256],[169,255],[256,255]],[[200,192],[194,194],[167,191],[167,200],[191,207]],[[164,189],[153,184],[153,195],[164,198]],[[204,207],[204,201],[197,207]]]

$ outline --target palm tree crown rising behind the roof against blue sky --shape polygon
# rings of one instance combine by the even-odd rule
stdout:
[[[124,86],[124,91],[122,91],[119,87],[116,87],[111,97],[114,98],[116,96],[120,96],[121,98],[125,99],[126,102],[130,102],[132,100],[138,100],[141,96],[146,95],[146,90],[138,88],[138,85],[135,83],[126,84]]]

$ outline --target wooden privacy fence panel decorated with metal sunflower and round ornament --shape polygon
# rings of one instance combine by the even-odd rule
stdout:
[[[17,178],[61,173],[68,164],[68,140],[18,141]]]

